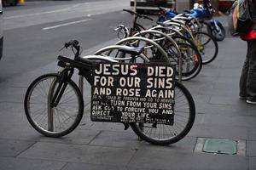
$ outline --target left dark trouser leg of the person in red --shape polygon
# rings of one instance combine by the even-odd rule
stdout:
[[[241,77],[240,77],[240,92],[239,96],[241,99],[246,99],[247,98],[247,72],[249,69],[249,61],[248,61],[248,56],[249,56],[249,42],[247,42],[247,57],[245,59],[245,62],[242,66],[241,70]]]

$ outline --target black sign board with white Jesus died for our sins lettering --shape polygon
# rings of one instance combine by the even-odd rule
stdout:
[[[91,88],[91,121],[173,124],[174,67],[99,63]]]

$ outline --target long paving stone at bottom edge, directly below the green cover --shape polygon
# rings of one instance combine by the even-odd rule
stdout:
[[[129,167],[154,169],[219,170],[247,169],[247,157],[179,153],[169,150],[138,150]]]

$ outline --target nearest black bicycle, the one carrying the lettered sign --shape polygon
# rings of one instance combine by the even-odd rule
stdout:
[[[58,65],[63,69],[58,73],[45,74],[35,79],[27,88],[24,100],[28,122],[38,133],[54,138],[71,133],[79,125],[84,114],[83,96],[78,85],[72,80],[74,70],[78,70],[79,75],[92,85],[94,78],[92,72],[97,61],[119,63],[116,59],[104,56],[81,57],[79,42],[75,40],[65,43],[65,47],[73,48],[74,59],[58,56]],[[135,61],[140,56],[143,59],[143,47],[115,46],[115,48],[122,53],[122,56],[131,55],[129,58],[124,58],[129,62]],[[195,103],[189,91],[179,82],[175,82],[175,100],[176,118],[172,126],[156,122],[127,122],[124,123],[125,129],[131,126],[141,139],[151,144],[172,144],[183,139],[195,121]]]

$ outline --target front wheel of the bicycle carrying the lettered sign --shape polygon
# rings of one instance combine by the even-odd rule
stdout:
[[[79,125],[84,113],[84,101],[78,86],[67,81],[67,87],[58,105],[50,100],[59,85],[57,74],[38,77],[26,91],[24,109],[28,122],[39,133],[48,137],[61,137]]]

